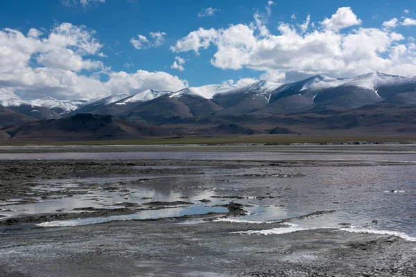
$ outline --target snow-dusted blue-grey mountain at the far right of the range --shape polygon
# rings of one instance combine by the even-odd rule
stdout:
[[[256,111],[279,114],[309,109],[356,109],[378,102],[399,102],[411,105],[414,97],[397,96],[416,91],[415,77],[367,73],[349,79],[316,75],[306,80],[284,84],[272,91],[270,104]],[[391,99],[391,100],[390,100]]]

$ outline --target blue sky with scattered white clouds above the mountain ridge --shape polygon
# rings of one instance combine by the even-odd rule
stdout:
[[[0,95],[416,75],[416,1],[3,0]]]

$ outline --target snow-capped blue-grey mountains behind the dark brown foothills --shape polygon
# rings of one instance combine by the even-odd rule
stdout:
[[[380,72],[343,79],[315,75],[286,84],[262,80],[244,87],[208,84],[180,91],[146,89],[135,95],[113,94],[89,102],[54,98],[28,101],[0,96],[0,105],[35,118],[59,118],[60,114],[73,116],[91,113],[133,118],[131,120],[151,120],[154,117],[159,118],[158,124],[163,121],[160,118],[169,117],[223,117],[318,109],[345,110],[379,102],[416,105],[416,77]]]

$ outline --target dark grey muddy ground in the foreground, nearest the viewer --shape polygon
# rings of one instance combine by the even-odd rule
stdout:
[[[2,276],[415,276],[416,244],[385,235],[183,220],[1,233]],[[281,227],[285,228],[285,227]]]

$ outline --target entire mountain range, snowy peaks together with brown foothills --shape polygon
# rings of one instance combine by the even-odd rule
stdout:
[[[89,101],[56,100],[51,97],[29,101],[0,96],[0,127],[3,127],[1,132],[14,139],[23,134],[28,136],[27,132],[23,132],[25,128],[33,136],[33,128],[44,132],[52,125],[58,128],[60,122],[67,124],[67,118],[95,114],[112,116],[113,127],[116,122],[123,126],[132,123],[134,128],[139,125],[142,128],[149,128],[150,125],[168,128],[163,132],[148,132],[146,136],[312,134],[348,129],[370,132],[377,129],[374,126],[384,126],[383,132],[395,133],[416,130],[413,122],[415,110],[416,76],[374,72],[340,79],[315,75],[288,84],[261,80],[244,87],[209,84],[180,91],[146,89],[135,95],[113,94]],[[105,117],[84,120],[93,118],[103,120],[103,124],[107,120]],[[126,131],[127,127],[115,128],[121,133],[114,133],[114,137],[123,136],[123,132],[145,135],[143,132],[132,132],[131,126],[129,128],[130,131]],[[115,129],[112,131],[115,132]],[[66,131],[55,131],[53,134],[59,132],[69,136]],[[89,133],[88,136],[92,137],[92,132],[110,136],[91,129],[85,134]],[[1,136],[3,140],[5,136]]]

